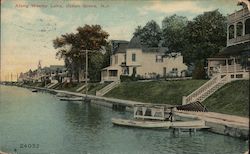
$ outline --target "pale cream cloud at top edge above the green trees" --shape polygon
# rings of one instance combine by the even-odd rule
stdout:
[[[141,15],[146,15],[149,11],[155,11],[160,13],[202,13],[204,11],[209,10],[211,10],[211,8],[198,6],[197,1],[174,1],[167,3],[164,3],[162,1],[153,1],[151,3],[148,3],[148,5],[138,9]]]

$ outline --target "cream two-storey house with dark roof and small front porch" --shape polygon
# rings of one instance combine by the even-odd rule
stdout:
[[[180,53],[166,53],[166,48],[141,45],[138,37],[130,42],[113,41],[110,66],[102,70],[102,81],[115,81],[120,75],[135,74],[141,78],[184,76],[187,66]]]

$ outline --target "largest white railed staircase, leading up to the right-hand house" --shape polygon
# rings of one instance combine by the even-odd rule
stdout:
[[[218,74],[188,96],[183,96],[182,104],[202,102],[219,88],[230,82],[229,74]]]

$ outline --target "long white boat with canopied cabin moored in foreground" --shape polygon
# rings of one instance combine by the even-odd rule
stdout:
[[[112,123],[120,126],[141,128],[174,128],[174,129],[203,129],[203,120],[177,121],[174,117],[174,107],[166,105],[134,105],[134,118],[112,118]]]

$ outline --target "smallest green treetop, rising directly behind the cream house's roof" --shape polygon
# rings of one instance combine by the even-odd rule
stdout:
[[[161,28],[154,20],[151,20],[143,28],[138,26],[134,36],[139,36],[144,46],[158,47],[161,40]]]

